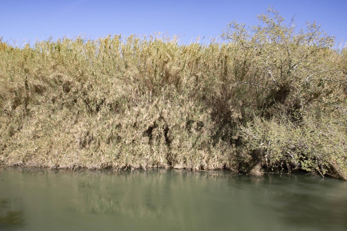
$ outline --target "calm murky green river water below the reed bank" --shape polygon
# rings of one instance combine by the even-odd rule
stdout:
[[[173,169],[0,169],[0,230],[347,230],[347,183]]]

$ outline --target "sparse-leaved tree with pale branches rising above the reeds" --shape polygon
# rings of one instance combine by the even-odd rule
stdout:
[[[326,100],[337,85],[346,85],[336,52],[331,49],[334,37],[324,33],[316,22],[307,21],[306,30],[297,31],[294,18],[286,25],[278,11],[271,6],[267,11],[257,16],[260,25],[246,27],[232,21],[222,32],[223,39],[255,57],[246,68],[257,72],[258,82],[235,85],[248,83],[268,90],[263,109],[288,103],[291,98],[289,108],[320,102],[343,110],[341,98]]]

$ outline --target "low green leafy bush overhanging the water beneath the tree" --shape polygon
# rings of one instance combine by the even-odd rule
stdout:
[[[302,169],[347,179],[346,118],[305,115],[300,125],[284,118],[256,118],[241,131],[246,150],[256,150],[264,168]]]

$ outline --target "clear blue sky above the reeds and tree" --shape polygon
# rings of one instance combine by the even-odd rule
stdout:
[[[228,21],[255,24],[255,15],[272,5],[299,27],[316,20],[335,35],[347,39],[347,0],[278,1],[1,1],[0,37],[3,41],[24,39],[33,43],[49,36],[68,35],[96,38],[108,34],[180,34],[192,37],[218,36]]]

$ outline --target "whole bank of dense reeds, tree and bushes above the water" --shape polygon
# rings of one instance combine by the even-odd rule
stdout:
[[[0,163],[305,170],[347,179],[347,50],[315,23],[230,23],[226,43],[0,44]]]

